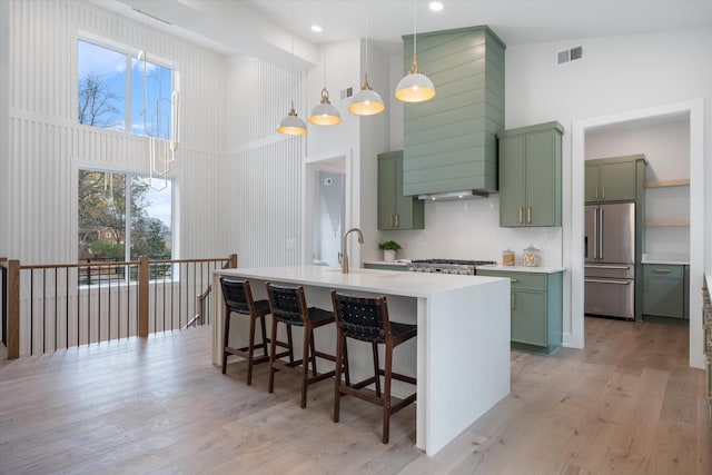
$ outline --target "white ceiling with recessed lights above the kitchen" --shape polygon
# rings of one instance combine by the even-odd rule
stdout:
[[[712,27],[711,0],[441,0],[441,12],[426,0],[91,1],[226,55],[273,60],[294,49],[308,61],[319,43],[366,37],[397,53],[414,20],[417,32],[487,24],[507,46]]]

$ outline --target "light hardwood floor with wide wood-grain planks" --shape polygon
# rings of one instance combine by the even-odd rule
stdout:
[[[380,444],[377,407],[265,365],[245,385],[197,328],[0,362],[2,474],[712,474],[703,372],[688,329],[586,318],[586,347],[512,352],[512,393],[435,457],[415,408]]]

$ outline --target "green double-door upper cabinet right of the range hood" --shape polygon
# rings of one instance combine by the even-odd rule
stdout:
[[[561,226],[558,122],[505,130],[500,138],[500,226]]]

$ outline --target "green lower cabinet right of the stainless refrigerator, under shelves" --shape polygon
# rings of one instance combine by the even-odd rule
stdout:
[[[645,315],[690,318],[690,267],[643,264],[643,318]]]

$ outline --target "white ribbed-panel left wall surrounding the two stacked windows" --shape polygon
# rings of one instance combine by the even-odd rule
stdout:
[[[224,57],[88,2],[2,3],[10,71],[3,251],[23,264],[76,261],[77,170],[149,170],[145,138],[78,123],[77,40],[88,33],[166,58],[180,72],[175,246],[185,258],[226,254],[206,231],[220,222],[218,196],[209,191],[224,148]]]

